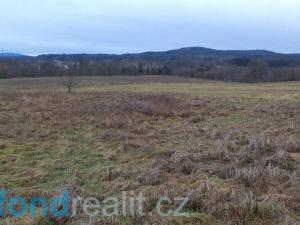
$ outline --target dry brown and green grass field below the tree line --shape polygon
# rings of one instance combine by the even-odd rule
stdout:
[[[188,196],[188,216],[0,224],[300,224],[300,83],[0,80],[0,189]]]

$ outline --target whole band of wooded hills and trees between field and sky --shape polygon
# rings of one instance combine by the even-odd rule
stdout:
[[[258,82],[300,80],[300,54],[267,50],[188,47],[136,54],[2,55],[0,78],[114,75],[179,75]],[[4,66],[3,66],[4,65]]]

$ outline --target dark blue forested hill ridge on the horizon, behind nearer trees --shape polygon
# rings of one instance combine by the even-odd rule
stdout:
[[[212,60],[245,66],[253,58],[261,58],[272,65],[300,65],[300,54],[283,54],[267,50],[216,50],[203,47],[189,47],[161,52],[143,52],[133,54],[48,54],[35,57],[39,60],[146,60],[151,62],[208,62]]]

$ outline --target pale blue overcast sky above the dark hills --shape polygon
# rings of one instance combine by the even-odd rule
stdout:
[[[299,0],[0,0],[5,52],[300,52]]]

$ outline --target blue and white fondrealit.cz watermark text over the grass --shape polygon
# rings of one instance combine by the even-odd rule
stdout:
[[[119,196],[119,197],[117,197]],[[120,197],[121,196],[121,197]],[[184,208],[189,199],[186,197],[169,198],[160,197],[153,211],[161,217],[187,216]],[[146,200],[143,193],[122,192],[121,195],[107,197],[100,201],[95,197],[83,198],[81,196],[70,197],[68,190],[61,195],[52,198],[31,197],[25,199],[21,196],[12,196],[7,190],[0,190],[0,217],[22,218],[30,217],[52,217],[68,218],[76,217],[84,213],[88,217],[112,217],[112,216],[146,216],[143,206]],[[166,205],[170,207],[165,207]],[[174,207],[176,206],[176,207]],[[172,208],[174,207],[174,208]],[[166,209],[167,208],[167,209]]]

